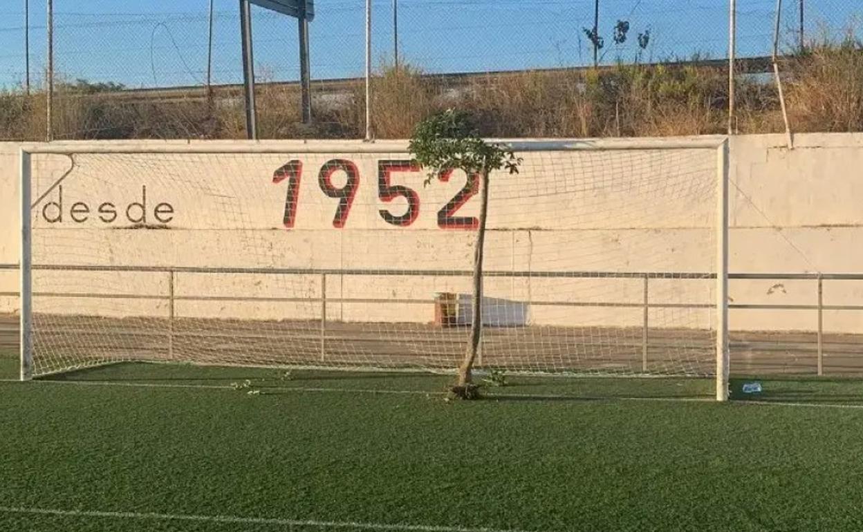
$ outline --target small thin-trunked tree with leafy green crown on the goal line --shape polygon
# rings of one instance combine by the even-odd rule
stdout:
[[[456,397],[474,398],[478,395],[478,388],[472,382],[472,371],[482,330],[482,259],[488,215],[488,177],[491,172],[501,168],[511,174],[518,173],[521,159],[506,146],[484,141],[469,116],[457,110],[446,110],[419,122],[413,130],[410,151],[419,166],[428,172],[425,185],[450,170],[466,173],[472,187],[476,186],[476,179],[481,179],[479,229],[474,248],[470,341],[464,360],[458,368],[457,383],[452,388]]]

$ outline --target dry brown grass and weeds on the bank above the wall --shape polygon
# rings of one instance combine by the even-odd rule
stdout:
[[[695,58],[698,59],[698,58]],[[795,131],[863,131],[863,45],[828,40],[785,61],[784,83]],[[493,137],[668,136],[724,133],[728,72],[699,66],[614,66],[573,72],[513,72],[475,76],[446,86],[410,65],[381,66],[373,80],[373,131],[406,138],[432,112],[466,110]],[[365,86],[333,96],[312,85],[313,123],[301,121],[295,86],[258,87],[261,138],[362,138]],[[61,83],[54,116],[58,139],[245,137],[242,94],[212,101],[137,102],[81,83]],[[735,129],[783,128],[777,91],[768,76],[740,79]],[[0,92],[0,138],[45,138],[45,97]]]

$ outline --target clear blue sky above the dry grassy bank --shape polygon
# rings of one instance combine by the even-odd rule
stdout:
[[[58,72],[68,78],[133,87],[201,84],[207,57],[209,0],[54,0]],[[860,0],[806,0],[807,31],[838,28],[863,16]],[[742,0],[741,55],[769,53],[775,0]],[[24,0],[0,7],[0,86],[24,77]],[[31,72],[45,62],[45,0],[30,0]],[[784,43],[791,45],[797,0],[786,0]],[[213,81],[242,78],[238,3],[215,0]],[[593,24],[593,0],[399,0],[403,56],[426,72],[484,72],[589,63],[582,28]],[[312,78],[362,75],[364,0],[317,0],[311,25]],[[259,78],[296,79],[297,24],[253,8]],[[374,3],[375,62],[392,58],[392,0]],[[630,22],[626,44],[612,28]],[[644,59],[702,53],[725,57],[727,0],[601,0],[605,62],[635,57],[636,35],[650,30]],[[860,22],[858,20],[858,22]]]

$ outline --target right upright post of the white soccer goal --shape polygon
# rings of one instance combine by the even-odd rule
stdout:
[[[728,401],[728,159],[729,141],[717,150],[716,400]]]

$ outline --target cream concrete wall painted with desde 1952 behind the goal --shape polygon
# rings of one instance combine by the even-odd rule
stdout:
[[[732,272],[863,272],[863,136],[799,135],[797,149],[784,147],[780,135],[736,137],[732,141]],[[147,143],[141,143],[147,144]],[[185,143],[183,143],[185,144]],[[213,144],[214,147],[218,143]],[[223,143],[224,145],[224,143]],[[438,226],[438,210],[465,183],[424,186],[421,172],[394,172],[392,183],[417,192],[419,215],[407,227],[387,223],[380,210],[400,215],[401,198],[378,196],[378,160],[402,159],[394,153],[350,153],[344,143],[331,153],[296,154],[305,145],[279,143],[283,155],[81,156],[72,172],[66,157],[35,160],[34,197],[43,194],[34,214],[34,258],[39,263],[114,266],[238,266],[357,268],[369,270],[469,270],[474,233]],[[319,150],[328,144],[316,143]],[[361,145],[357,145],[361,146]],[[18,146],[0,144],[0,263],[18,260]],[[295,153],[291,156],[289,153]],[[495,176],[491,189],[488,269],[514,271],[709,272],[715,257],[715,159],[708,152],[525,153],[519,176]],[[318,183],[327,160],[352,160],[359,186],[343,228],[333,227],[338,198]],[[273,183],[274,169],[301,160],[299,199],[293,228],[283,227],[288,180]],[[59,202],[63,185],[64,221],[50,223],[47,203]],[[345,173],[331,176],[333,189]],[[148,223],[160,203],[173,212],[165,229],[130,228],[124,208],[141,201],[147,186]],[[55,187],[52,189],[51,187]],[[456,216],[476,216],[477,199]],[[74,222],[72,206],[86,203],[86,222]],[[110,203],[118,220],[104,224],[98,206]],[[85,207],[79,205],[79,219]],[[138,209],[133,208],[133,218]],[[109,215],[104,215],[110,218]],[[56,217],[56,205],[47,218]],[[242,231],[236,230],[242,227]],[[16,290],[16,272],[0,271],[0,291]],[[536,325],[637,326],[640,309],[560,307],[551,302],[639,303],[641,279],[489,279],[492,322]],[[165,295],[164,273],[38,272],[37,291],[98,291],[109,294]],[[308,297],[322,292],[320,276],[213,275],[186,273],[175,278],[180,296]],[[333,299],[374,298],[430,301],[436,292],[469,291],[469,279],[444,276],[393,278],[381,275],[328,276]],[[712,283],[654,279],[650,297],[657,303],[709,303]],[[814,304],[812,281],[734,281],[735,303]],[[854,304],[863,282],[825,284],[825,303]],[[0,311],[16,310],[16,299],[0,297]],[[158,300],[41,298],[37,310],[109,316],[166,316]],[[178,304],[182,316],[255,316],[311,319],[317,301],[304,303],[192,302]],[[431,303],[331,303],[330,319],[360,322],[430,322]],[[652,310],[657,327],[703,328],[705,310]],[[737,310],[733,329],[813,329],[809,311]],[[825,315],[832,331],[863,332],[863,313]]]

